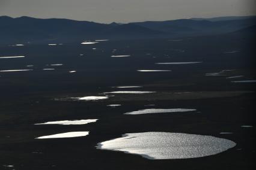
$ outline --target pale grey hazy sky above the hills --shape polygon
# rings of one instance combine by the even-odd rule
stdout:
[[[0,16],[101,23],[255,15],[256,0],[0,0]]]

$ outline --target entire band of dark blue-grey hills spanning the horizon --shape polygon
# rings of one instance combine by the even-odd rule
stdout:
[[[228,18],[230,20],[228,20]],[[180,19],[163,22],[95,23],[69,19],[0,17],[0,44],[77,42],[108,39],[174,38],[224,34],[254,25],[256,17],[224,17],[218,21]]]

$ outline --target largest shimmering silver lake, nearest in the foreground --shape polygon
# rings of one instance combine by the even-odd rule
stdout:
[[[210,156],[236,146],[228,139],[186,133],[126,133],[97,144],[98,149],[139,154],[147,159],[188,159]]]

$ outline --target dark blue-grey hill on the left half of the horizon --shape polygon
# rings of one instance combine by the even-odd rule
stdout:
[[[32,17],[0,17],[0,37],[7,42],[79,40],[111,28],[94,22],[67,19],[34,19]],[[0,41],[2,41],[0,40]]]

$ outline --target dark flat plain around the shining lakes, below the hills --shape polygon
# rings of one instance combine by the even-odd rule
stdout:
[[[231,82],[256,79],[253,40],[223,35],[182,38],[182,41],[0,47],[0,56],[26,56],[1,59],[0,70],[28,69],[26,65],[34,65],[34,71],[0,72],[0,169],[254,169],[255,83]],[[234,50],[239,52],[225,53]],[[131,56],[110,57],[113,54]],[[154,64],[195,61],[203,63]],[[63,66],[46,66],[52,63]],[[43,71],[43,68],[55,70]],[[172,71],[137,72],[137,69]],[[77,72],[69,73],[72,70]],[[206,76],[223,70],[230,71],[224,71],[221,76]],[[244,77],[227,79],[236,75]],[[115,95],[102,101],[55,100],[120,90],[112,86],[143,86],[125,90],[157,93]],[[109,104],[121,106],[111,108],[106,106]],[[151,104],[155,106],[145,106]],[[123,115],[144,108],[195,108],[197,111]],[[87,125],[33,125],[76,119],[99,120]],[[253,128],[242,128],[242,125]],[[90,134],[81,138],[34,139],[72,131],[90,131]],[[95,147],[98,142],[136,132],[212,135],[230,139],[237,145],[213,156],[179,160],[148,160]]]

